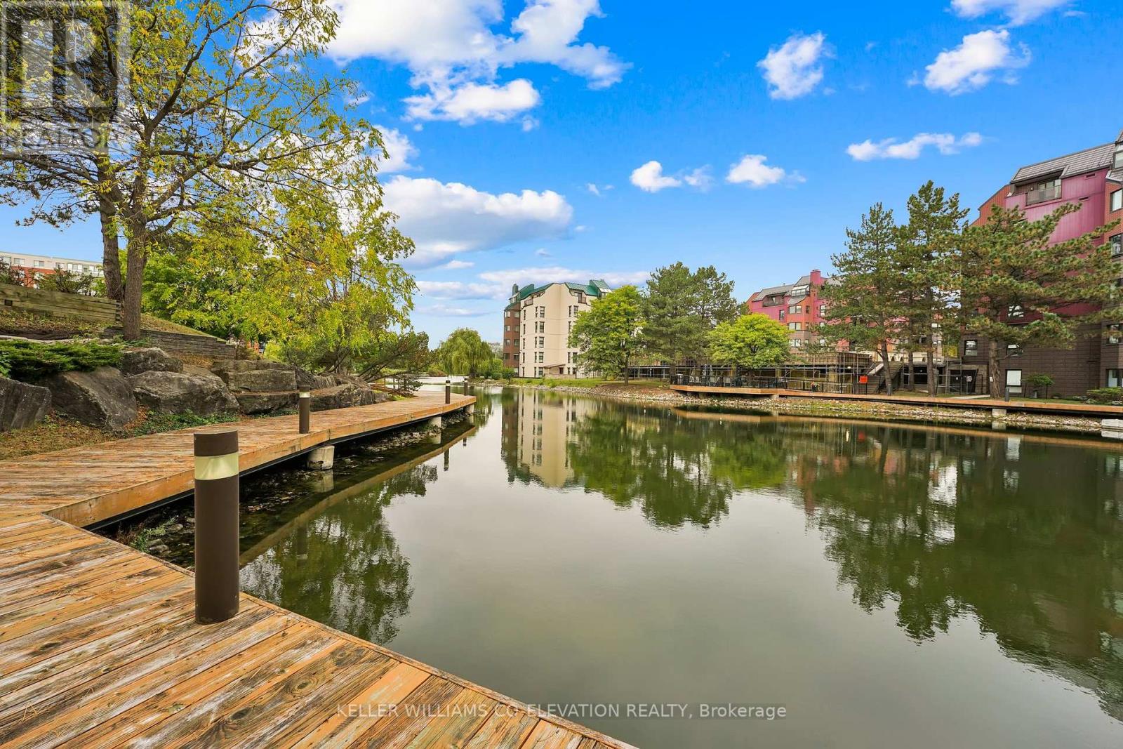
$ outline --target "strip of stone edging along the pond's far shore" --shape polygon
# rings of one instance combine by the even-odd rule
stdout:
[[[1010,412],[1005,417],[995,418],[985,410],[942,409],[902,403],[884,403],[868,401],[831,401],[823,399],[784,398],[780,400],[750,401],[745,398],[697,398],[667,391],[652,391],[650,387],[619,386],[611,387],[577,387],[558,385],[533,385],[522,383],[490,382],[487,384],[523,390],[539,390],[554,393],[572,393],[575,395],[592,395],[622,401],[646,402],[658,405],[705,405],[737,411],[768,411],[791,415],[813,417],[849,417],[876,419],[879,421],[924,421],[948,424],[975,424],[990,427],[994,423],[1017,429],[1052,429],[1083,433],[1101,433],[1098,419],[1079,417],[1057,417],[1039,413]]]

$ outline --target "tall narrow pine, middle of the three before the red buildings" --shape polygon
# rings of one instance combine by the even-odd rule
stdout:
[[[901,229],[902,317],[907,321],[905,346],[925,353],[928,392],[935,395],[935,335],[949,321],[951,289],[947,275],[950,258],[970,211],[959,207],[959,193],[947,195],[931,180],[909,198],[909,222]]]

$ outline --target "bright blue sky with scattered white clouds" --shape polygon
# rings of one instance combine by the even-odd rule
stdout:
[[[335,2],[433,342],[499,340],[514,282],[681,259],[745,299],[829,271],[873,202],[932,179],[977,207],[1123,128],[1117,1]],[[13,250],[100,254],[93,227],[18,216]]]

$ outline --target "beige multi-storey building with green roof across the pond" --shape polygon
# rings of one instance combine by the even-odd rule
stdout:
[[[503,359],[520,377],[578,377],[590,373],[577,365],[569,331],[593,300],[612,291],[601,280],[587,284],[533,284],[511,291],[503,311]]]

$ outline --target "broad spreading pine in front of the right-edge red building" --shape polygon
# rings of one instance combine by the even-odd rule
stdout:
[[[1081,326],[1119,319],[1119,264],[1096,244],[1117,222],[1066,241],[1051,241],[1061,219],[1080,210],[1066,203],[1034,221],[996,205],[985,223],[967,228],[952,267],[964,326],[989,340],[990,395],[1003,395],[999,366],[1029,347],[1067,348]],[[1011,350],[1008,346],[1015,348]]]

